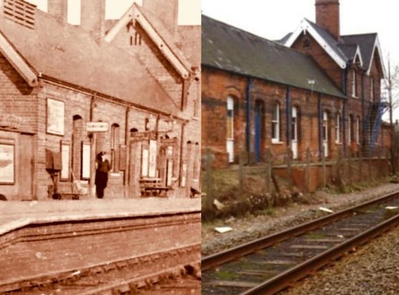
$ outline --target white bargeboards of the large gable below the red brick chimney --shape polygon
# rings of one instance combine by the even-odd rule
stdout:
[[[312,24],[306,19],[303,19],[302,22],[300,22],[300,26],[296,31],[292,33],[292,35],[286,40],[286,45],[287,47],[291,47],[293,43],[298,39],[301,33],[309,32],[310,35],[314,38],[314,40],[319,43],[319,45],[327,52],[329,56],[340,66],[340,68],[346,68],[347,67],[347,62],[342,59],[342,57],[335,52],[333,47],[331,47],[326,40],[314,29]],[[339,49],[338,49],[339,50]]]

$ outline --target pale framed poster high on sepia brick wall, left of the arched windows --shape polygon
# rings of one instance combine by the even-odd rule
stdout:
[[[52,98],[47,99],[47,133],[64,135],[65,103]]]

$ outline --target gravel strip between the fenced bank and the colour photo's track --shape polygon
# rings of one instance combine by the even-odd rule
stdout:
[[[350,194],[331,195],[327,192],[317,192],[313,198],[314,204],[311,205],[292,204],[286,208],[275,209],[270,212],[270,215],[251,215],[246,218],[230,218],[203,223],[201,252],[204,257],[328,214],[320,211],[320,206],[339,211],[368,199],[398,191],[398,189],[398,184],[386,183]],[[218,226],[232,227],[233,230],[219,234],[215,232],[215,227]]]

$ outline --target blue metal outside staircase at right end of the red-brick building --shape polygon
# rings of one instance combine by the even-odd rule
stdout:
[[[379,130],[381,129],[382,116],[389,109],[389,103],[381,100],[378,103],[371,103],[368,114],[363,122],[363,153],[369,156],[375,149],[378,139]]]

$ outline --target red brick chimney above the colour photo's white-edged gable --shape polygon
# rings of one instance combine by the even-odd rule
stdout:
[[[316,24],[340,38],[340,1],[316,0]]]

